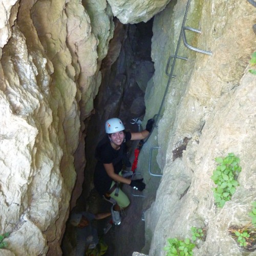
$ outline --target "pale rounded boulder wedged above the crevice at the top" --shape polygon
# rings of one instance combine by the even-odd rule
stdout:
[[[123,24],[147,22],[162,11],[170,0],[125,1],[108,0],[114,16]]]

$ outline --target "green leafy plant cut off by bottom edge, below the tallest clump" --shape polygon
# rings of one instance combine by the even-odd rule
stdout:
[[[164,250],[167,251],[167,256],[175,256],[175,255],[193,255],[193,248],[196,246],[191,243],[188,238],[183,240],[178,240],[177,238],[169,238],[167,240],[168,245],[164,247]]]

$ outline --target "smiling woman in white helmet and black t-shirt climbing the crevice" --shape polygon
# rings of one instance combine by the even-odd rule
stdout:
[[[128,184],[140,191],[146,186],[143,179],[130,180],[121,176],[123,164],[131,166],[125,142],[145,139],[151,133],[153,124],[154,119],[150,119],[145,130],[130,133],[124,131],[124,125],[118,118],[111,118],[105,122],[106,136],[98,143],[95,151],[98,162],[94,172],[94,185],[101,196],[111,197],[117,202],[112,207],[112,219],[116,225],[121,223],[119,211],[130,204],[127,196],[119,188],[119,183]]]

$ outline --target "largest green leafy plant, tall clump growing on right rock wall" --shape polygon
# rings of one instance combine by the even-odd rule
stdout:
[[[229,201],[239,186],[237,176],[241,172],[239,166],[240,159],[233,153],[229,153],[227,157],[217,157],[215,161],[218,163],[211,179],[217,185],[212,188],[214,191],[215,203],[218,207],[223,207],[226,201]]]

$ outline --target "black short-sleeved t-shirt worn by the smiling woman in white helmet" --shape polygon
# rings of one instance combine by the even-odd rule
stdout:
[[[104,163],[113,163],[115,174],[122,170],[123,163],[127,164],[127,153],[125,142],[131,140],[132,134],[125,132],[124,142],[119,150],[114,150],[108,136],[105,136],[97,145],[95,157],[98,162],[94,171],[94,186],[100,195],[104,195],[111,188],[112,179],[106,173]]]

